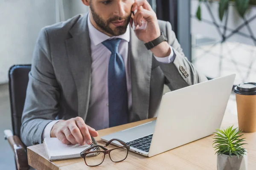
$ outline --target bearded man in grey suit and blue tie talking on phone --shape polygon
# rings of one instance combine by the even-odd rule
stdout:
[[[90,144],[96,130],[156,117],[164,84],[207,80],[146,0],[82,2],[87,14],[40,31],[20,132],[27,146]]]

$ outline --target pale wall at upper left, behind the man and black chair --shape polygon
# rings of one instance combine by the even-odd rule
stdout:
[[[81,0],[63,0],[65,20],[87,12]],[[38,32],[55,23],[55,0],[0,0],[0,84],[15,64],[30,64]]]

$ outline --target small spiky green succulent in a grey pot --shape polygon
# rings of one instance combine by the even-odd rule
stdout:
[[[236,128],[237,129],[237,128]],[[243,147],[245,138],[241,139],[241,131],[233,129],[233,126],[227,129],[217,129],[212,145],[216,150],[217,170],[247,170],[247,154]]]

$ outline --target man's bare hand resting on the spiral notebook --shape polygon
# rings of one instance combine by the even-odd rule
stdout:
[[[51,130],[51,137],[58,138],[64,144],[91,144],[91,136],[97,137],[98,132],[86,125],[81,117],[60,120]]]

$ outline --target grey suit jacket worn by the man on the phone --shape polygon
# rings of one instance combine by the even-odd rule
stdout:
[[[206,81],[184,56],[171,24],[159,20],[175,51],[173,63],[158,62],[131,29],[132,111],[130,122],[157,116],[164,84],[170,90]],[[42,142],[44,127],[55,119],[86,120],[91,82],[87,14],[43,28],[35,45],[20,137],[27,146]],[[100,122],[99,122],[100,123]]]

